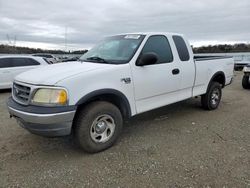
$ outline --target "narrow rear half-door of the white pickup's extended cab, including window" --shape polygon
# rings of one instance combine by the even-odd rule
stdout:
[[[192,97],[195,81],[195,64],[193,57],[190,57],[192,49],[188,42],[182,36],[174,35],[172,38],[178,54],[176,62],[179,64],[178,67],[181,76],[179,98],[180,100],[184,100]]]

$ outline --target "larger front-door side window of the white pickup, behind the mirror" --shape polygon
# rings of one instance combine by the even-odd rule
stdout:
[[[163,35],[155,35],[148,38],[142,49],[142,54],[154,52],[158,55],[157,64],[170,63],[173,61],[173,54],[168,39]]]

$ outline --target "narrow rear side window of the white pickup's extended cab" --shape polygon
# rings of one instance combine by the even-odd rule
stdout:
[[[187,45],[181,36],[173,36],[175,46],[177,48],[181,61],[188,61],[190,59]]]

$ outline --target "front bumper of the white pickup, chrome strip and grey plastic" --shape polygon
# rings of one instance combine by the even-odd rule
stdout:
[[[9,98],[8,110],[20,126],[41,136],[66,136],[71,133],[75,106],[41,107],[23,106]]]

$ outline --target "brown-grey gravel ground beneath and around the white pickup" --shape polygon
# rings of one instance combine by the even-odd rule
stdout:
[[[250,187],[250,91],[242,73],[216,111],[190,99],[125,123],[118,143],[86,154],[70,137],[32,135],[0,93],[0,187]]]

